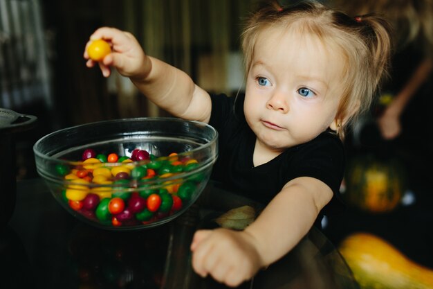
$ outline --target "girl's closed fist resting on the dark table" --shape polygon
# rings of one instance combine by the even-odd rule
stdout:
[[[255,239],[246,231],[214,229],[196,231],[191,244],[192,267],[201,277],[238,286],[264,266]]]

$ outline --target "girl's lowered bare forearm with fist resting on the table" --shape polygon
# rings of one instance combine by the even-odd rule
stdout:
[[[332,191],[323,182],[293,179],[245,230],[197,231],[191,245],[194,270],[238,286],[293,249],[331,198]]]

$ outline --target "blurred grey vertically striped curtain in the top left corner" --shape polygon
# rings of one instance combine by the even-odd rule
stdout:
[[[53,106],[37,0],[0,0],[0,107]]]

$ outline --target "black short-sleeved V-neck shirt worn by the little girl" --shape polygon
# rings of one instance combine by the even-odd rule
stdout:
[[[344,173],[344,148],[333,132],[288,148],[266,164],[254,166],[256,136],[243,116],[243,95],[213,95],[210,125],[219,133],[219,157],[211,178],[241,195],[268,204],[282,187],[296,177],[315,177],[333,191],[323,213],[340,211],[340,184]]]

